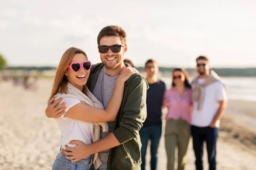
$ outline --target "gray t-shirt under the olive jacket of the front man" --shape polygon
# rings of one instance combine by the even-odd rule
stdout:
[[[96,96],[96,98],[102,102],[103,106],[106,108],[108,105],[108,102],[111,98],[111,95],[113,93],[113,90],[115,88],[116,79],[117,76],[108,76],[105,73],[105,66],[102,68],[99,77],[97,79],[96,85],[93,90],[93,95]],[[109,132],[113,131],[113,122],[108,122]],[[102,131],[102,127],[100,130],[100,138],[104,138],[107,136],[107,133],[104,133]],[[105,150],[99,153],[99,158],[102,160],[102,165],[97,170],[107,170],[108,167],[108,155],[109,155],[110,149]],[[92,168],[94,170],[94,168]]]

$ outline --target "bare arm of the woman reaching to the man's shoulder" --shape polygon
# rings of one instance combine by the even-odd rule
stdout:
[[[135,68],[124,68],[119,77],[116,80],[115,88],[113,94],[110,98],[106,110],[94,108],[92,106],[86,105],[84,103],[78,103],[70,108],[65,117],[78,119],[84,122],[109,122],[116,118],[119,111],[120,105],[122,103],[124,83],[131,77],[132,74],[137,73]]]

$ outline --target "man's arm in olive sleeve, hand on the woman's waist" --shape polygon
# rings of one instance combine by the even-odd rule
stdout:
[[[79,141],[72,141],[70,144],[77,144],[76,147],[67,147],[66,158],[72,162],[79,161],[93,153],[116,147],[139,135],[139,130],[146,118],[146,90],[147,83],[142,77],[134,77],[134,82],[128,89],[128,97],[123,109],[120,126],[105,138],[91,144],[84,144]]]

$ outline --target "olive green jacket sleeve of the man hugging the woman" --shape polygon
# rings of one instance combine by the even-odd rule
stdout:
[[[119,127],[113,131],[120,144],[139,135],[139,130],[147,116],[147,82],[140,76],[134,77],[131,81]]]

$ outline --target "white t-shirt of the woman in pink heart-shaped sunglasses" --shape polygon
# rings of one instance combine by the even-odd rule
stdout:
[[[75,144],[68,144],[73,140],[84,142],[85,144],[92,143],[93,123],[83,122],[76,119],[65,117],[67,111],[74,105],[80,103],[79,99],[73,97],[63,98],[59,105],[66,102],[65,113],[56,120],[58,127],[61,130],[61,145],[65,149],[65,144],[69,147],[75,147]]]

